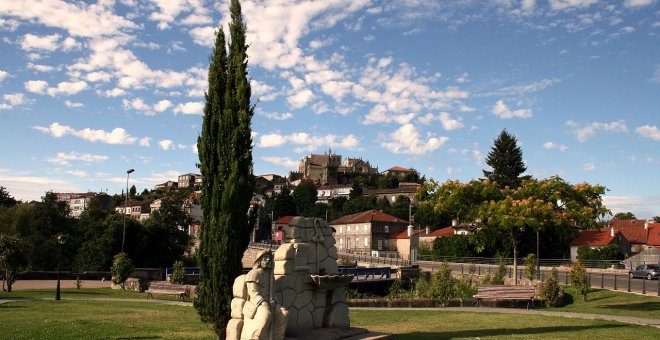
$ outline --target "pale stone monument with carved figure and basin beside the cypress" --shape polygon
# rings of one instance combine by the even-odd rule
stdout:
[[[298,217],[289,223],[272,274],[266,254],[234,282],[228,340],[267,340],[271,332],[272,339],[283,339],[284,330],[287,337],[316,340],[367,332],[350,328],[344,287],[353,276],[339,274],[335,238],[323,220]]]

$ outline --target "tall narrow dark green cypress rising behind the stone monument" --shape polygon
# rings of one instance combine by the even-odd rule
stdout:
[[[245,24],[238,0],[230,4],[229,54],[222,28],[210,57],[202,133],[197,141],[202,187],[200,283],[195,308],[224,339],[231,318],[231,291],[242,272],[253,222],[248,208],[254,190],[251,120],[254,107],[247,79]]]

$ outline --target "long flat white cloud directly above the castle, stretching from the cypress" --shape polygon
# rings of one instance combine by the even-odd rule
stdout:
[[[257,147],[271,148],[279,147],[287,143],[297,145],[294,152],[309,152],[319,148],[338,147],[347,150],[355,150],[359,147],[359,141],[354,135],[310,135],[306,132],[295,132],[289,135],[279,133],[263,134],[259,136]]]

